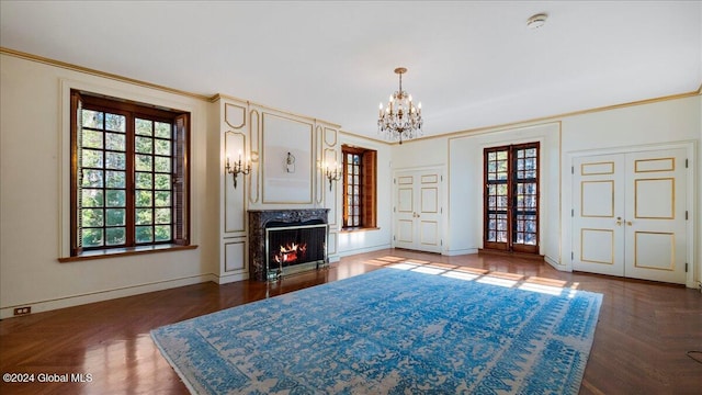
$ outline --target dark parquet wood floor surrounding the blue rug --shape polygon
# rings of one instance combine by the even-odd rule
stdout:
[[[0,394],[186,394],[149,337],[159,326],[414,259],[474,268],[519,283],[604,295],[580,394],[702,394],[702,294],[682,286],[559,272],[542,261],[381,250],[279,283],[203,283],[0,321],[0,371],[90,374],[84,383],[5,383]],[[698,356],[702,357],[702,356]],[[54,375],[54,376],[52,376]]]

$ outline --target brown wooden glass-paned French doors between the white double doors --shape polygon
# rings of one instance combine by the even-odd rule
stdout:
[[[485,248],[539,252],[539,143],[485,148]]]

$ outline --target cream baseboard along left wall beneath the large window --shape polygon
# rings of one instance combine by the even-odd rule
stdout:
[[[163,291],[179,286],[200,284],[203,282],[216,282],[214,274],[197,274],[180,279],[171,279],[157,281],[147,284],[138,284],[132,286],[123,286],[113,290],[104,290],[98,292],[91,292],[80,295],[72,295],[66,297],[57,297],[53,300],[35,301],[30,303],[23,303],[13,306],[5,306],[0,308],[0,319],[14,317],[14,308],[16,307],[31,307],[32,314],[50,312],[58,308],[80,306],[88,303],[103,302],[120,297],[134,296],[148,292]]]

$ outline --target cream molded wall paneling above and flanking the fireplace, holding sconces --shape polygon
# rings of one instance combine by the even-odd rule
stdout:
[[[233,98],[217,98],[213,105],[219,125],[219,282],[252,275],[248,264],[252,242],[247,217],[250,210],[326,208],[327,253],[330,261],[338,260],[341,187],[333,182],[329,189],[322,165],[341,162],[339,126]],[[238,161],[239,156],[251,170],[249,174],[237,174],[235,188],[225,165],[227,159]]]

